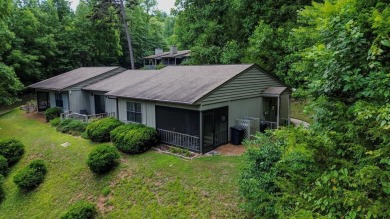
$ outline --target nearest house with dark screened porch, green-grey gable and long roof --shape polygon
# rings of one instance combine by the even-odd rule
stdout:
[[[163,142],[200,153],[229,142],[237,119],[273,128],[290,121],[290,89],[253,64],[130,70],[84,90],[116,99],[106,108],[116,107],[119,120],[154,127]]]

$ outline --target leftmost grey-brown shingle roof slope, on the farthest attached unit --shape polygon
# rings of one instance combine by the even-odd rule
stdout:
[[[28,87],[60,91],[117,68],[120,67],[82,67],[32,84]]]

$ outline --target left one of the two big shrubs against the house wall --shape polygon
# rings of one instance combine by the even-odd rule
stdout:
[[[108,142],[110,141],[110,132],[121,125],[123,123],[119,120],[107,117],[89,123],[86,132],[88,138],[94,142]]]

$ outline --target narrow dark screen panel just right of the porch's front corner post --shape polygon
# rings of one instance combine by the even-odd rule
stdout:
[[[210,151],[214,148],[215,122],[214,112],[203,113],[203,151]]]

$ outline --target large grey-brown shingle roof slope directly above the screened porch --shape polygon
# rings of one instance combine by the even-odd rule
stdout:
[[[128,80],[106,95],[133,99],[194,104],[202,97],[253,67],[241,65],[168,66],[147,80]]]

